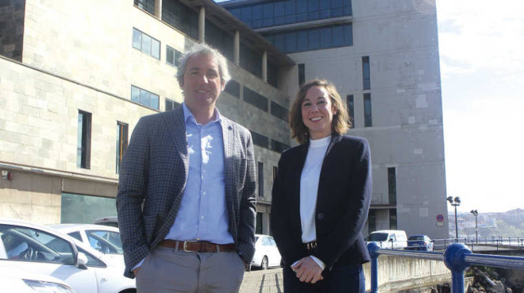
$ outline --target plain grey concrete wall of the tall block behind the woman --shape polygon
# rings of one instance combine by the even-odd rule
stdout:
[[[374,205],[388,205],[387,168],[396,168],[398,228],[447,237],[441,79],[435,1],[352,1],[353,46],[299,52],[305,78],[333,81],[354,95],[354,125],[372,151]],[[362,57],[370,57],[371,89],[363,90]],[[298,71],[284,76],[294,99]],[[363,94],[370,93],[372,127],[364,127]],[[392,205],[395,208],[395,205]],[[389,218],[380,217],[389,228]],[[367,229],[365,229],[367,230]]]

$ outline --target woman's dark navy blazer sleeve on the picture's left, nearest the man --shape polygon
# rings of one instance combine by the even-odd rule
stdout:
[[[290,229],[289,225],[291,223],[289,219],[290,207],[285,196],[285,185],[289,183],[285,178],[288,160],[286,152],[283,152],[273,181],[270,226],[283,263],[292,265],[292,263],[301,259],[301,256],[305,255],[305,251],[303,251],[300,235],[297,236],[296,231]]]

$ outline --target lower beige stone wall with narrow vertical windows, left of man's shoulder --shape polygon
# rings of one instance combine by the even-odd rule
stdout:
[[[116,180],[117,121],[156,111],[0,59],[0,161]],[[79,110],[92,113],[90,169],[77,167]]]

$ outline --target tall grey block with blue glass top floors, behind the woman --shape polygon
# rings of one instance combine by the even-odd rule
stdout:
[[[292,99],[299,83],[315,77],[333,81],[345,97],[354,117],[349,134],[365,137],[372,150],[365,232],[398,228],[447,237],[435,1],[221,4],[296,63],[279,81]]]

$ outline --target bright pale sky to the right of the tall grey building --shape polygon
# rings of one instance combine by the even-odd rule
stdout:
[[[463,212],[524,209],[524,1],[436,9],[447,196]]]

